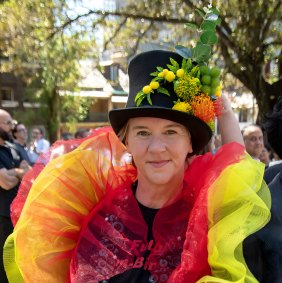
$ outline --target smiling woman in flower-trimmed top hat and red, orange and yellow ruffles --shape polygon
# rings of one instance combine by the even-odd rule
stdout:
[[[119,139],[100,129],[42,171],[6,244],[10,282],[256,281],[242,241],[269,217],[263,166],[190,63],[166,51],[131,61],[127,106],[109,113]],[[216,114],[225,145],[195,157]]]

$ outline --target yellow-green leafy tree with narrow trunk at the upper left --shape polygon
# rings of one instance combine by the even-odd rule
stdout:
[[[60,22],[60,14],[66,8],[64,2],[53,1],[8,1],[0,6],[4,15],[0,23],[2,31],[0,50],[9,58],[8,70],[20,74],[27,85],[31,101],[39,101],[42,117],[45,117],[49,139],[54,142],[59,136],[61,109],[64,104],[88,105],[85,99],[61,97],[60,90],[78,90],[78,61],[87,54],[89,40],[80,31],[64,29],[50,34]],[[82,103],[83,101],[83,103]],[[76,121],[85,109],[67,115]],[[38,115],[38,114],[37,114]],[[82,115],[83,116],[83,115]]]

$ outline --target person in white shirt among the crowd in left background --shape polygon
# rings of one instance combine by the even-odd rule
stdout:
[[[50,142],[44,138],[42,128],[34,128],[32,130],[32,139],[33,141],[29,147],[28,155],[31,163],[35,164],[40,154],[48,152]]]

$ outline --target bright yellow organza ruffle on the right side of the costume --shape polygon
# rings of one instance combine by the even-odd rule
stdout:
[[[258,282],[249,271],[242,242],[270,218],[264,165],[248,154],[228,166],[209,188],[208,261],[212,275],[198,282]]]

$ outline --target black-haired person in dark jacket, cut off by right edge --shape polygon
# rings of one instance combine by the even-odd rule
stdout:
[[[266,116],[263,124],[267,141],[272,150],[282,157],[282,96]],[[282,164],[270,166],[265,171],[265,181],[271,193],[271,219],[263,229],[254,234],[260,245],[252,249],[260,250],[260,257],[253,258],[257,266],[260,283],[282,283]]]

